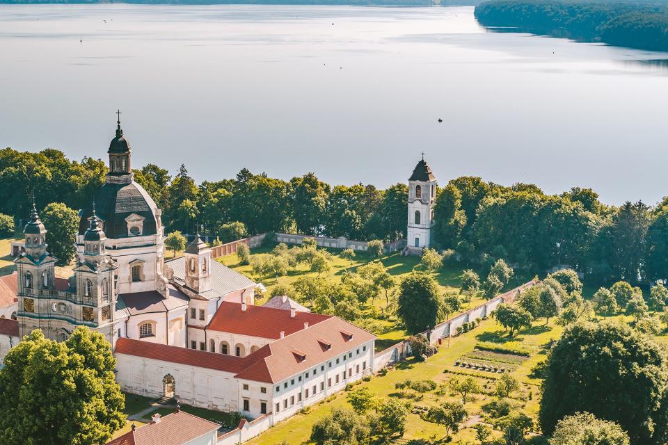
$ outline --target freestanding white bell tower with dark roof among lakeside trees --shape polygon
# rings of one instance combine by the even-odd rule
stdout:
[[[408,252],[422,254],[431,245],[431,227],[434,226],[436,177],[422,159],[408,178]]]

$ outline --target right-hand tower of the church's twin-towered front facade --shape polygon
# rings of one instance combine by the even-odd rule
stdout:
[[[95,327],[109,341],[113,340],[113,313],[117,291],[113,279],[116,266],[106,255],[106,235],[100,227],[100,218],[90,217],[90,225],[84,234],[84,261],[74,268],[77,282],[77,301],[81,305],[81,322]]]

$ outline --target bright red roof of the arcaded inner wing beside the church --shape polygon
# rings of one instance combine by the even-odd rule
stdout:
[[[304,323],[312,326],[328,318],[332,317],[299,311],[292,318],[290,311],[253,305],[248,305],[244,312],[240,303],[222,302],[207,330],[278,340],[281,331],[287,336],[303,330]]]

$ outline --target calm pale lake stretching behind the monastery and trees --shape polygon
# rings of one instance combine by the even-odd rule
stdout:
[[[0,147],[198,181],[241,168],[406,181],[461,175],[668,195],[668,54],[492,33],[472,7],[0,6]],[[443,123],[439,123],[438,119]]]

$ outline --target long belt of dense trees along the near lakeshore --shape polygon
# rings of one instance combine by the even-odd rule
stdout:
[[[70,161],[63,152],[0,150],[0,213],[29,215],[63,202],[79,209],[104,183],[106,163]],[[158,165],[135,179],[164,210],[167,230],[192,233],[196,223],[221,241],[264,232],[299,232],[394,241],[405,236],[408,188],[331,186],[313,173],[289,181],[241,170],[232,179],[196,181],[184,166],[175,176]],[[649,283],[668,278],[668,199],[650,207],[601,203],[595,191],[574,187],[546,195],[532,184],[501,186],[479,177],[452,179],[438,189],[434,238],[452,261],[544,273],[567,264],[591,280]]]

